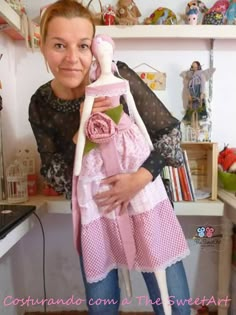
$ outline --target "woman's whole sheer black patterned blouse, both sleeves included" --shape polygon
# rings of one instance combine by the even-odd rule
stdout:
[[[180,166],[183,155],[179,121],[132,69],[120,61],[117,67],[119,74],[129,80],[136,107],[154,144],[155,150],[142,167],[155,178],[165,165]],[[83,100],[83,97],[69,101],[57,98],[49,81],[38,88],[29,105],[29,121],[42,162],[40,173],[56,191],[65,193],[68,199],[71,197],[75,155],[72,138],[79,128],[80,104]],[[128,112],[122,98],[121,103]]]

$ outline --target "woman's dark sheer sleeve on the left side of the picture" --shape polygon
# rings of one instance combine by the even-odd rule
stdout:
[[[48,110],[48,115],[50,115]],[[74,144],[67,143],[71,147],[68,154],[58,149],[55,128],[50,123],[50,117],[45,117],[40,112],[39,101],[35,96],[31,98],[29,106],[29,121],[36,138],[38,152],[41,158],[40,173],[57,192],[64,193],[66,198],[71,197],[71,179],[73,170]]]

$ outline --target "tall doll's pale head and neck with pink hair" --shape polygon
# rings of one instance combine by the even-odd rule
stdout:
[[[95,81],[104,69],[115,72],[117,70],[112,61],[115,43],[110,36],[97,35],[92,42],[92,53],[96,60],[92,63],[90,80]]]

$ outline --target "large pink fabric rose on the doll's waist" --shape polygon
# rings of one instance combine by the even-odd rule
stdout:
[[[92,114],[85,127],[86,136],[94,143],[108,142],[114,137],[116,132],[116,124],[104,113]]]

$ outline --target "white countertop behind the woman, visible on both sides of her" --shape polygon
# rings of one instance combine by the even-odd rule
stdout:
[[[40,217],[47,213],[71,214],[70,201],[66,200],[63,196],[47,197],[37,195],[30,197],[29,201],[25,204],[35,205],[37,208],[36,213]],[[176,202],[175,212],[178,216],[222,216],[224,213],[224,203],[220,200],[211,201],[208,199],[197,202]],[[36,224],[38,224],[37,218],[32,214],[7,234],[5,238],[0,240],[0,258]]]

